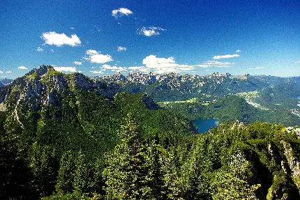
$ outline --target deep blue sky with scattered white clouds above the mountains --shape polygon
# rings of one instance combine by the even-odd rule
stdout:
[[[0,1],[0,78],[38,66],[112,75],[300,75],[299,1]]]

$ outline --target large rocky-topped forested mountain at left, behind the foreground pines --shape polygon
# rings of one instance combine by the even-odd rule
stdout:
[[[157,135],[163,142],[174,134],[194,134],[186,118],[159,109],[146,94],[117,91],[113,84],[51,66],[33,69],[1,88],[1,141],[11,144],[29,171],[43,179],[34,179],[43,195],[54,191],[64,153],[82,151],[89,160],[101,159],[119,141],[117,130],[128,112],[143,137]]]

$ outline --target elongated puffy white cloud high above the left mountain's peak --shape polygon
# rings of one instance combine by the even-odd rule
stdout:
[[[78,38],[75,34],[72,34],[69,38],[65,33],[47,32],[43,33],[40,38],[45,40],[45,44],[55,45],[57,47],[61,47],[62,45],[75,47],[81,44],[80,38]]]

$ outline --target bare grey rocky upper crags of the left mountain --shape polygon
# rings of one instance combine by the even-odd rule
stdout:
[[[123,78],[121,74],[116,76]],[[93,91],[112,99],[121,89],[118,84],[91,79],[81,73],[67,75],[52,66],[40,66],[3,86],[0,89],[0,105],[2,108],[14,108],[17,120],[18,113],[22,113],[21,108],[40,110],[47,105],[61,107],[63,99],[76,96],[80,91]],[[147,94],[142,96],[142,100],[149,109],[158,109],[156,102]]]

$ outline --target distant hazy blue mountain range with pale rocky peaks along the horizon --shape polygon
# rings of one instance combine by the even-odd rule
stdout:
[[[130,93],[145,92],[156,101],[186,100],[198,97],[201,93],[223,96],[230,93],[262,90],[268,86],[299,83],[299,77],[283,78],[271,76],[234,76],[213,73],[212,75],[179,75],[170,73],[132,72],[126,76],[118,72],[113,76],[95,77],[95,79],[117,84],[122,91]]]

